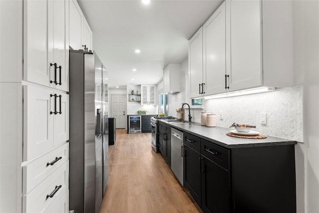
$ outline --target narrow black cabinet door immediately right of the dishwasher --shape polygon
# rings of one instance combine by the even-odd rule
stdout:
[[[201,207],[200,154],[184,144],[184,187]]]

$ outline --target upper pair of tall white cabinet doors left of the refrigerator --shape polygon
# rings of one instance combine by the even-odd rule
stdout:
[[[69,90],[68,5],[24,1],[24,80]]]

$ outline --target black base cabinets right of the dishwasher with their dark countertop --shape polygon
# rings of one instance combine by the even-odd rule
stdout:
[[[229,128],[162,125],[184,133],[184,186],[205,213],[296,212],[296,141],[241,139]]]

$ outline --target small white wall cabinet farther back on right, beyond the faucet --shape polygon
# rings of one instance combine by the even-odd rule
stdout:
[[[180,92],[180,64],[168,64],[164,71],[164,93]]]

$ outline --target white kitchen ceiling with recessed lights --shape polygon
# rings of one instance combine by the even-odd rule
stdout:
[[[222,1],[78,0],[111,88],[159,83],[164,66],[187,58],[188,39]]]

